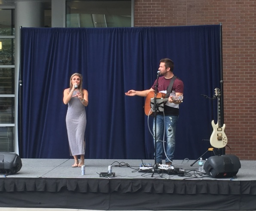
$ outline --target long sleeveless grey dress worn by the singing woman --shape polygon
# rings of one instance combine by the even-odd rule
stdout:
[[[73,95],[76,95],[76,92],[78,91],[75,90]],[[72,97],[68,102],[66,125],[70,155],[84,155],[86,112],[78,97]]]

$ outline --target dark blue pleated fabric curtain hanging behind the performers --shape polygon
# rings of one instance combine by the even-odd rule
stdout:
[[[153,159],[153,117],[143,97],[125,92],[149,89],[162,58],[185,85],[175,159],[196,159],[210,147],[217,116],[216,100],[202,95],[220,83],[219,25],[21,28],[22,158],[70,158],[62,99],[79,72],[89,93],[85,157]]]

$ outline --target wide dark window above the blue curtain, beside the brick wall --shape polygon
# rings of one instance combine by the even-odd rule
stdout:
[[[66,1],[66,27],[131,27],[131,0]]]

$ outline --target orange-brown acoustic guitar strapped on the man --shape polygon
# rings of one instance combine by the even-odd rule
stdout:
[[[158,92],[156,94],[156,99],[157,102],[159,103],[163,103],[162,106],[164,105],[164,102],[167,102],[169,98],[165,98],[165,93],[162,92]],[[151,100],[155,98],[155,92],[151,91],[146,95],[146,100],[145,100],[145,105],[144,105],[144,112],[146,114],[146,116],[154,116],[154,110],[151,109]],[[173,100],[175,101],[182,101],[183,100],[183,95],[181,96],[174,96],[172,97]]]

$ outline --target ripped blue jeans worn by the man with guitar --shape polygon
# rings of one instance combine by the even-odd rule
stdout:
[[[175,150],[175,134],[176,134],[176,125],[179,116],[156,116],[156,162],[162,163],[162,155],[164,153],[163,146],[163,135],[165,127],[165,140],[167,140],[165,152],[169,160],[174,158]],[[155,119],[153,121],[153,133],[155,141]],[[155,142],[154,142],[155,144]],[[154,145],[155,146],[155,145]],[[165,162],[170,162],[168,158],[165,158]]]

